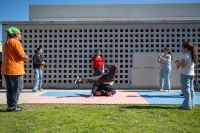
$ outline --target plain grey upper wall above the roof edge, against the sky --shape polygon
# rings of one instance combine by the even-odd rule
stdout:
[[[119,5],[30,5],[30,21],[199,19],[200,3]]]

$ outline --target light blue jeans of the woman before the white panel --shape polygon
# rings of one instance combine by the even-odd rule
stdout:
[[[169,79],[170,71],[171,71],[171,69],[166,69],[166,70],[160,69],[160,80],[159,80],[160,89],[163,89],[163,81],[164,81],[164,84],[165,84],[165,89],[166,90],[171,89],[170,79]]]

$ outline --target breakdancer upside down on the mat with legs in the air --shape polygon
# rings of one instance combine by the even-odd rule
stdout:
[[[116,91],[112,88],[114,77],[117,72],[117,65],[113,65],[110,67],[110,71],[107,74],[104,74],[102,76],[96,76],[96,77],[86,77],[86,78],[79,78],[77,77],[74,80],[74,86],[77,83],[101,83],[99,86],[94,86],[91,92],[91,96],[89,98],[92,98],[94,96],[113,96]]]

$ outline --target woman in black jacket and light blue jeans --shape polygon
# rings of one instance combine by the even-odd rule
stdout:
[[[42,69],[45,62],[42,58],[42,48],[37,48],[36,54],[33,56],[33,69],[35,74],[35,82],[33,92],[40,92],[42,90]]]

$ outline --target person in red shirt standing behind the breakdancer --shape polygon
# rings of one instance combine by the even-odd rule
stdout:
[[[96,55],[92,58],[92,73],[93,77],[101,76],[104,73],[104,59],[100,56],[101,51],[97,50]],[[93,87],[96,83],[93,84]]]

